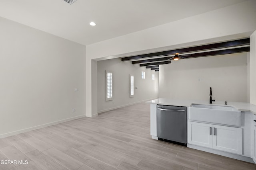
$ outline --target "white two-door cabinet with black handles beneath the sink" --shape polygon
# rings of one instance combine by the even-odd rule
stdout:
[[[242,154],[242,129],[188,121],[188,143]]]

